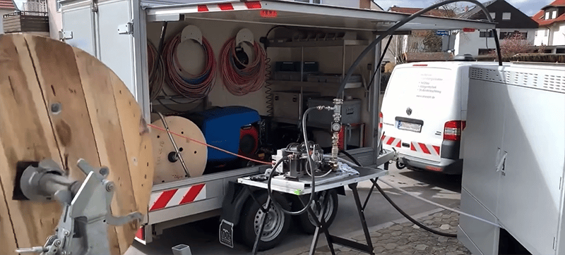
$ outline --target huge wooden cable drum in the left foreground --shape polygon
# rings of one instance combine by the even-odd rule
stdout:
[[[153,182],[150,132],[129,89],[81,49],[46,37],[0,35],[0,247],[43,246],[61,217],[57,201],[13,199],[16,165],[51,158],[83,180],[76,162],[107,166],[112,214],[147,213]],[[112,254],[124,254],[136,222],[108,225]]]

